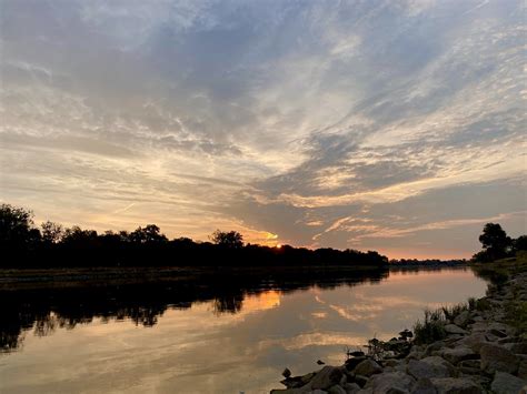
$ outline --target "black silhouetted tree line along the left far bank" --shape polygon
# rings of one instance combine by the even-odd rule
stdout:
[[[50,221],[37,228],[31,211],[10,204],[0,205],[0,266],[8,267],[388,264],[388,257],[374,251],[246,244],[237,231],[217,230],[210,242],[196,242],[169,240],[156,224],[103,233]]]

